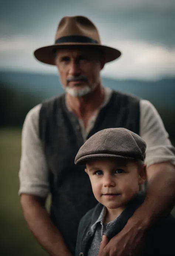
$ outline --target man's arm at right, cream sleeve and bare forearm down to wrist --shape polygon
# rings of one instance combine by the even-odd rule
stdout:
[[[140,107],[140,136],[147,143],[148,183],[144,204],[133,217],[144,214],[142,223],[146,228],[158,217],[171,212],[175,205],[175,148],[155,107],[147,100],[143,100]]]

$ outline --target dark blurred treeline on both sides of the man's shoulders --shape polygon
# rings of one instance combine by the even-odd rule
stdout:
[[[19,91],[10,85],[0,83],[0,126],[22,127],[28,111],[43,100],[43,95]],[[154,102],[152,102],[154,104]],[[175,108],[156,106],[170,139],[175,144]]]

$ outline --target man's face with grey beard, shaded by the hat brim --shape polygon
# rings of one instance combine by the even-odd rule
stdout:
[[[100,82],[104,64],[95,50],[58,50],[55,64],[66,92],[81,97],[92,92]]]

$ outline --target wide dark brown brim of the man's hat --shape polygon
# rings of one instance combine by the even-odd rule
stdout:
[[[105,62],[114,61],[115,59],[119,58],[121,52],[115,48],[108,47],[106,45],[100,44],[92,44],[92,43],[62,43],[62,44],[54,44],[48,45],[45,47],[38,48],[34,51],[35,58],[38,61],[41,61],[45,64],[55,65],[55,51],[59,49],[75,49],[79,46],[80,48],[92,47],[94,49],[99,49],[104,53]]]

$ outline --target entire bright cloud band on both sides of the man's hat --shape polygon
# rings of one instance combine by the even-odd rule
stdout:
[[[34,72],[55,73],[55,66],[38,62],[33,51],[44,40],[30,37],[4,38],[0,40],[0,68]],[[106,44],[118,48],[122,56],[106,64],[102,75],[118,79],[156,80],[175,74],[175,48],[152,45],[142,41],[105,40]]]

